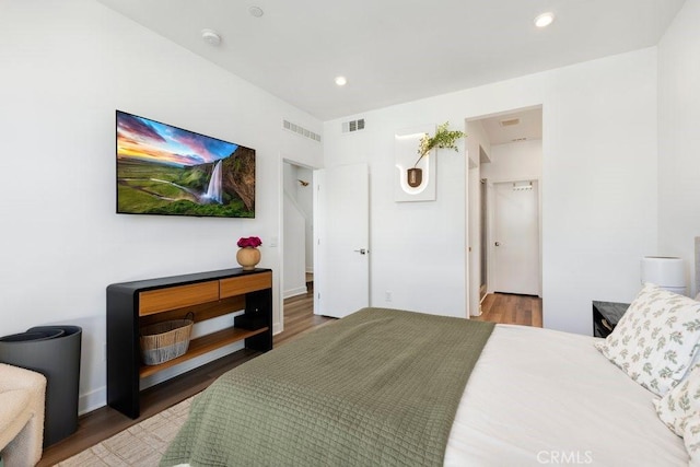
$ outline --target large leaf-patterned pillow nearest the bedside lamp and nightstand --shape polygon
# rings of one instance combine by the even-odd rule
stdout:
[[[595,347],[632,380],[663,396],[688,372],[700,340],[700,303],[644,284],[615,330]]]

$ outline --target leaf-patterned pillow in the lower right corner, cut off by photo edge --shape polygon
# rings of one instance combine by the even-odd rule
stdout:
[[[661,421],[682,436],[691,465],[700,463],[700,365],[664,397],[654,400],[654,406]]]

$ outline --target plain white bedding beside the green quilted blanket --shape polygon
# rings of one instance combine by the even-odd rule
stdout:
[[[446,466],[688,465],[654,396],[595,338],[497,325],[452,428]]]

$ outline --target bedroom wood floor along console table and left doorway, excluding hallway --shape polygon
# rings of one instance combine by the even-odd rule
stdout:
[[[313,306],[313,287],[308,293],[284,301],[284,331],[272,338],[273,347],[282,346],[311,329],[334,320],[332,318],[315,316]],[[213,383],[221,374],[258,354],[260,352],[241,350],[232,354],[231,358],[217,360],[184,375],[168,380],[167,384],[154,386],[142,392],[141,400],[147,409],[136,420],[131,420],[110,407],[102,407],[81,416],[78,420],[78,431],[44,450],[38,466],[52,466],[154,416],[161,410],[165,410],[194,396]]]

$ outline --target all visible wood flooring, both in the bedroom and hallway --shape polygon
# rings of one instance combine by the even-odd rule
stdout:
[[[526,295],[487,295],[481,304],[482,314],[475,319],[541,327],[541,299]],[[273,337],[275,347],[282,346],[302,334],[323,326],[332,318],[313,314],[313,288],[308,293],[284,301],[284,331]],[[201,392],[224,372],[258,355],[259,352],[241,350],[232,358],[218,360],[184,375],[170,380],[141,393],[147,410],[136,420],[110,407],[102,407],[80,417],[78,431],[49,446],[38,466],[52,466],[107,437]],[[162,387],[161,387],[162,386]]]

